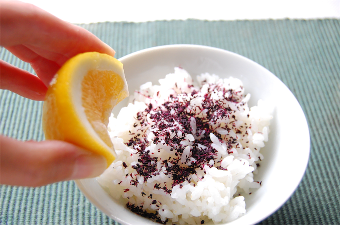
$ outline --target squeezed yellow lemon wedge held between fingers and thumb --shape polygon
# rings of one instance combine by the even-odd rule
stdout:
[[[101,154],[115,152],[107,125],[113,107],[129,95],[123,64],[98,52],[70,58],[48,88],[43,106],[46,139],[64,140]]]

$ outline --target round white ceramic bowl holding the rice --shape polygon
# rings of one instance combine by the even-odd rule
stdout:
[[[193,77],[203,72],[220,77],[233,76],[243,81],[245,92],[251,93],[249,106],[263,99],[275,106],[270,125],[269,141],[261,152],[264,160],[258,168],[259,189],[246,198],[246,214],[227,223],[254,224],[277,210],[299,184],[309,157],[309,130],[303,111],[290,90],[270,71],[236,53],[201,45],[165,45],[140,50],[120,58],[124,64],[129,91],[139,89],[147,81],[174,71],[175,66],[186,69]],[[124,100],[114,109],[114,114]],[[159,224],[139,216],[111,198],[95,178],[77,180],[85,196],[108,216],[122,224]],[[207,223],[205,223],[207,224]]]

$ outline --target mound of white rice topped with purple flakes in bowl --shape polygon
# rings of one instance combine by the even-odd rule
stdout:
[[[272,109],[249,109],[241,80],[183,68],[135,91],[108,130],[117,158],[98,178],[132,211],[160,223],[232,221],[268,140]]]

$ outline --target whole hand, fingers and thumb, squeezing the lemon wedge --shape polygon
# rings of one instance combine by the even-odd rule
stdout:
[[[94,34],[29,3],[0,0],[0,46],[29,62],[37,76],[0,59],[0,88],[44,100],[47,86],[71,57],[87,51],[114,56]],[[106,159],[57,140],[21,141],[0,135],[0,183],[42,186],[94,177]]]

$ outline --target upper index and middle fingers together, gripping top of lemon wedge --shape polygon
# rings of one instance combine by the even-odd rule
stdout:
[[[66,60],[78,53],[115,51],[90,31],[20,1],[2,1],[0,45],[31,63],[47,85]],[[38,71],[37,71],[38,70]]]

